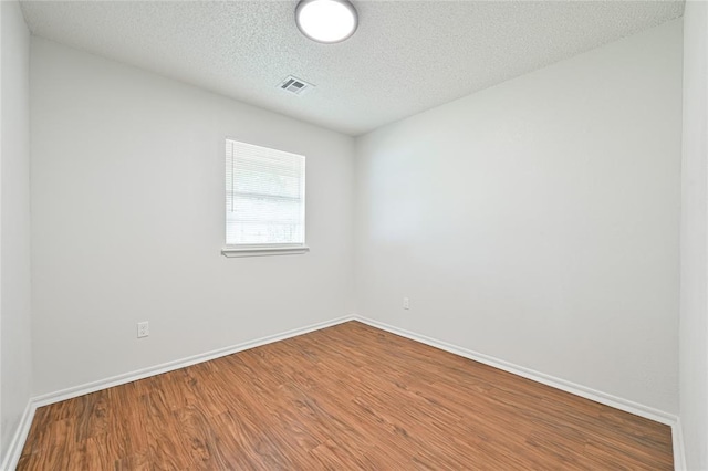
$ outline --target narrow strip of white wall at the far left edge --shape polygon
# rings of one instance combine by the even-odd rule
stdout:
[[[17,1],[1,1],[0,462],[31,394],[30,34]]]

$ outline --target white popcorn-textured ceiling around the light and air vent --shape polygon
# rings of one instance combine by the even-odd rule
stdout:
[[[358,135],[678,18],[683,1],[356,1],[339,44],[293,1],[23,1],[42,38]],[[316,85],[295,96],[287,75]]]

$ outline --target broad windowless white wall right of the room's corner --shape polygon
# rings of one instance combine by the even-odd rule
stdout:
[[[357,312],[676,414],[680,122],[678,20],[361,137]]]

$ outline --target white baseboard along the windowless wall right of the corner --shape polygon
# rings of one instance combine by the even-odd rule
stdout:
[[[374,321],[360,315],[356,315],[355,318],[356,321],[371,325],[372,327],[381,328],[383,331],[391,332],[392,334],[400,335],[402,337],[410,338],[412,341],[420,342],[423,344],[440,348],[455,355],[459,355],[475,362],[483,363],[485,365],[493,366],[494,368],[503,369],[504,371],[512,373],[517,376],[521,376],[527,379],[531,379],[533,381],[564,390],[575,396],[581,396],[586,399],[594,400],[595,402],[604,404],[605,406],[610,406],[615,409],[624,410],[625,412],[634,414],[635,416],[655,420],[667,426],[673,426],[677,421],[677,417],[673,414],[654,409],[652,407],[644,406],[632,400],[623,399],[606,393],[598,391],[596,389],[589,388],[586,386],[566,381],[565,379],[556,378],[554,376],[535,371],[523,366],[514,365],[512,363],[504,362],[489,355],[458,347],[457,345],[451,345],[447,342],[441,342],[435,338],[427,337],[425,335],[416,334],[414,332],[385,324],[383,322]]]

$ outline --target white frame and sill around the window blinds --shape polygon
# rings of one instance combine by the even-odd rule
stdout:
[[[296,154],[288,150],[281,150],[273,147],[262,146],[259,144],[251,144],[246,140],[240,140],[233,137],[225,137],[222,139],[223,143],[223,154],[221,155],[222,159],[222,169],[223,169],[223,195],[228,197],[229,188],[227,185],[227,169],[226,165],[228,163],[228,146],[229,142],[235,144],[244,144],[248,146],[262,147],[270,150],[275,150],[284,154],[291,154],[295,156],[300,156],[303,159],[302,165],[302,175],[301,178],[304,182],[304,189],[302,191],[302,226],[303,226],[303,241],[302,243],[238,243],[238,244],[228,244],[226,243],[226,237],[228,231],[228,216],[226,211],[226,198],[222,200],[225,203],[225,211],[222,212],[223,217],[223,247],[221,248],[221,254],[223,257],[233,258],[233,257],[263,257],[263,255],[290,255],[290,254],[302,254],[310,251],[310,247],[306,245],[306,157],[302,154]]]

